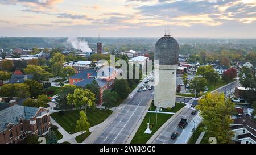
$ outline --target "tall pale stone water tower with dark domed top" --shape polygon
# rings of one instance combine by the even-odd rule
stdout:
[[[176,98],[176,70],[179,44],[170,35],[164,35],[155,44],[155,94],[156,107],[172,108]]]

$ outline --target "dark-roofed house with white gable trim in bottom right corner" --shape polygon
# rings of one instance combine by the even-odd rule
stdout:
[[[230,129],[234,132],[232,140],[235,143],[256,144],[256,123],[249,116],[234,119]]]

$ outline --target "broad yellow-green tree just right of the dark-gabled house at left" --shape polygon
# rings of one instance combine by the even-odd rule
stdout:
[[[28,65],[27,68],[24,69],[24,73],[32,74],[36,81],[44,80],[51,76],[51,73],[48,73],[46,70],[40,68],[40,66],[35,65]]]

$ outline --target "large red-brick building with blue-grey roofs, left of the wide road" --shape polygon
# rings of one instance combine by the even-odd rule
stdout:
[[[117,76],[118,73],[119,71],[117,69],[109,66],[101,68],[100,70],[87,69],[69,77],[69,84],[85,87],[92,83],[92,81],[96,81],[100,89],[100,94],[96,97],[98,98],[97,104],[102,104],[103,91],[106,89],[111,90],[113,88],[115,76]]]

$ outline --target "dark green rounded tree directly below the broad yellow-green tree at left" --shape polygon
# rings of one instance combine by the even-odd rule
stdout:
[[[43,84],[38,81],[27,79],[24,83],[26,83],[30,87],[30,97],[36,98],[38,95],[43,94]]]

